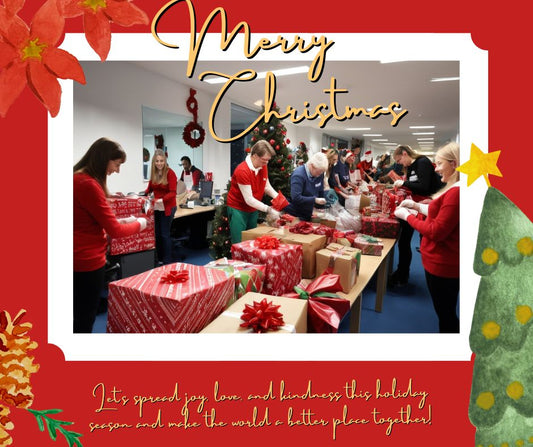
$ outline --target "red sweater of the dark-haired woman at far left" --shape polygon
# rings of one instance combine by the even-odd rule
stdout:
[[[107,238],[137,233],[139,222],[121,224],[100,184],[87,174],[74,174],[74,271],[90,272],[105,265]]]

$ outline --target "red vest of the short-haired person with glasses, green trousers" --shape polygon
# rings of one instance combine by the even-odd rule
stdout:
[[[227,205],[246,213],[253,213],[254,211],[257,211],[255,208],[248,206],[248,204],[245,202],[239,185],[250,185],[252,187],[252,194],[254,198],[261,201],[265,195],[265,186],[267,180],[268,168],[266,165],[260,168],[256,174],[250,169],[246,160],[243,161],[235,168],[235,171],[231,176],[231,185],[228,191],[228,198],[226,200]]]

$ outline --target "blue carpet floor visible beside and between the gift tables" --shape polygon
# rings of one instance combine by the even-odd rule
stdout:
[[[388,289],[383,300],[383,311],[374,311],[376,297],[375,278],[373,278],[363,293],[361,312],[362,333],[432,333],[438,332],[438,319],[433,309],[433,303],[426,287],[424,269],[420,253],[416,251],[420,240],[415,232],[411,243],[413,260],[409,284],[405,287]],[[181,248],[185,255],[183,262],[194,265],[205,265],[212,258],[205,249]],[[393,269],[397,265],[398,250],[395,250]],[[93,328],[94,333],[105,333],[107,313],[97,316]]]

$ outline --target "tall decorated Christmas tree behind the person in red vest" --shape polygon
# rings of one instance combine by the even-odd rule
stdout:
[[[279,112],[279,107],[274,103],[274,110]],[[263,107],[263,112],[264,112]],[[288,144],[290,140],[285,139],[287,129],[281,120],[273,116],[268,122],[261,122],[253,131],[251,144],[259,140],[267,140],[275,149],[274,155],[268,163],[268,179],[276,191],[281,191],[285,197],[290,197],[290,176],[294,169],[293,156],[290,153]],[[265,197],[264,201],[270,203],[270,198]]]

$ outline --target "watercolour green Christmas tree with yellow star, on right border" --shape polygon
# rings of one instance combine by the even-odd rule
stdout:
[[[470,332],[469,416],[477,447],[520,447],[533,444],[533,225],[490,186],[488,174],[501,176],[498,156],[472,145],[471,159],[458,168],[468,185],[480,175],[489,185],[474,258],[481,280]]]

